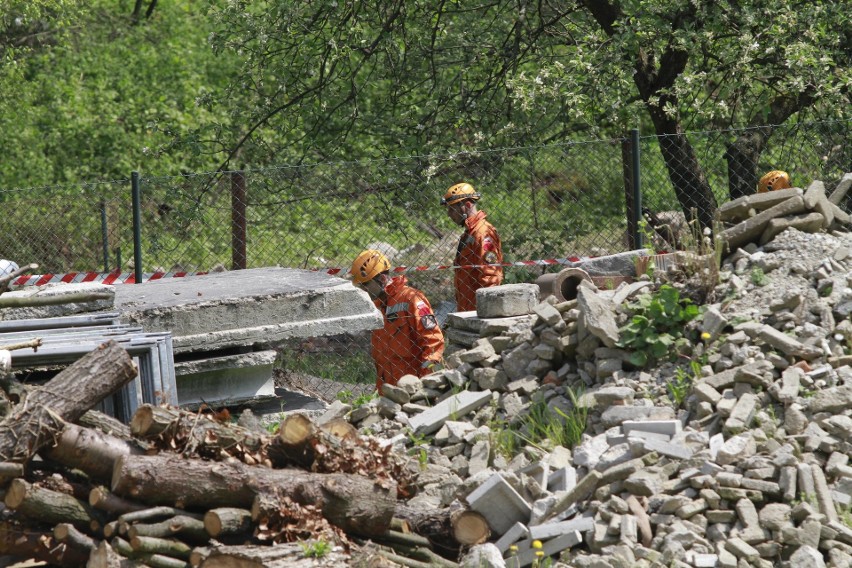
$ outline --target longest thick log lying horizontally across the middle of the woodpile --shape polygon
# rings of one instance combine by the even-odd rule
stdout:
[[[331,524],[363,536],[384,533],[396,505],[396,484],[360,475],[275,470],[241,463],[213,463],[175,456],[123,456],[112,490],[150,504],[249,508],[257,493],[281,491],[313,505]]]

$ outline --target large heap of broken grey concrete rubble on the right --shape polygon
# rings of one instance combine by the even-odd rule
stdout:
[[[582,567],[852,566],[852,234],[837,207],[850,186],[722,208],[732,253],[694,322],[700,366],[679,407],[666,393],[684,361],[637,369],[617,347],[646,276],[581,282],[564,301],[480,290],[477,312],[450,316],[443,371],[324,419],[423,450],[409,504],[461,504],[492,530],[463,565],[532,565],[535,543]],[[537,404],[587,409],[582,443],[506,457],[501,430]]]

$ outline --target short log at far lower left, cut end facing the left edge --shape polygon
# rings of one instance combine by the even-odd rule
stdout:
[[[88,503],[65,493],[32,485],[23,479],[15,479],[9,484],[5,503],[28,519],[51,525],[71,523],[87,530],[93,520],[103,520],[101,514]]]

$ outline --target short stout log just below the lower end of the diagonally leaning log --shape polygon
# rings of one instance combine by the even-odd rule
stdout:
[[[79,469],[95,482],[109,483],[119,456],[142,454],[144,451],[99,430],[66,424],[56,444],[39,453],[43,458],[67,468]]]

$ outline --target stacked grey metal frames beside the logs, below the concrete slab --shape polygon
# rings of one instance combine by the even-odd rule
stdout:
[[[120,323],[118,313],[0,321],[0,347],[36,338],[42,343],[38,349],[12,351],[13,370],[59,369],[110,340],[123,347],[139,375],[99,408],[123,422],[129,422],[141,404],[178,403],[170,332],[145,333]]]

